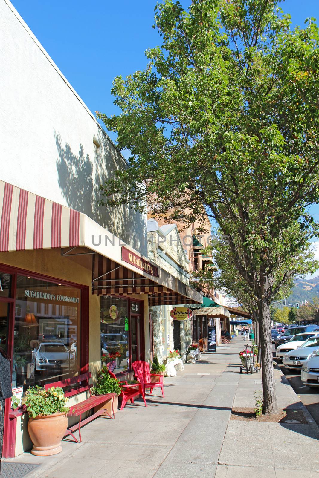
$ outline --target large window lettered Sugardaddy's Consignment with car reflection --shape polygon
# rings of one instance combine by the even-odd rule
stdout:
[[[12,387],[63,380],[80,370],[81,291],[17,276]]]

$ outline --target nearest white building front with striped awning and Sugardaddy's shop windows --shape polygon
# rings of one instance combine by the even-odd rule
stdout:
[[[145,215],[97,206],[125,159],[8,0],[0,31],[0,347],[23,399],[94,380],[101,356],[130,373],[151,359],[150,306],[201,297],[147,258]],[[27,420],[6,401],[3,456],[31,447]]]

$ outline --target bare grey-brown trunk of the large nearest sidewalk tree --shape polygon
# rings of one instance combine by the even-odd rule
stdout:
[[[264,395],[263,413],[272,415],[278,413],[278,405],[274,379],[269,302],[261,301],[258,305],[258,312]]]

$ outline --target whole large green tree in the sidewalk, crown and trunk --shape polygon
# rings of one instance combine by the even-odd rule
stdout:
[[[185,222],[210,214],[227,237],[257,300],[266,414],[277,412],[269,306],[299,272],[319,197],[319,33],[313,19],[292,31],[277,4],[194,0],[184,11],[163,0],[162,45],[145,70],[115,78],[121,113],[97,113],[131,152],[101,205],[147,203]]]

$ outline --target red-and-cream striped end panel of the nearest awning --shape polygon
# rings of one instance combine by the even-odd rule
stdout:
[[[0,252],[81,244],[85,215],[0,181]]]

